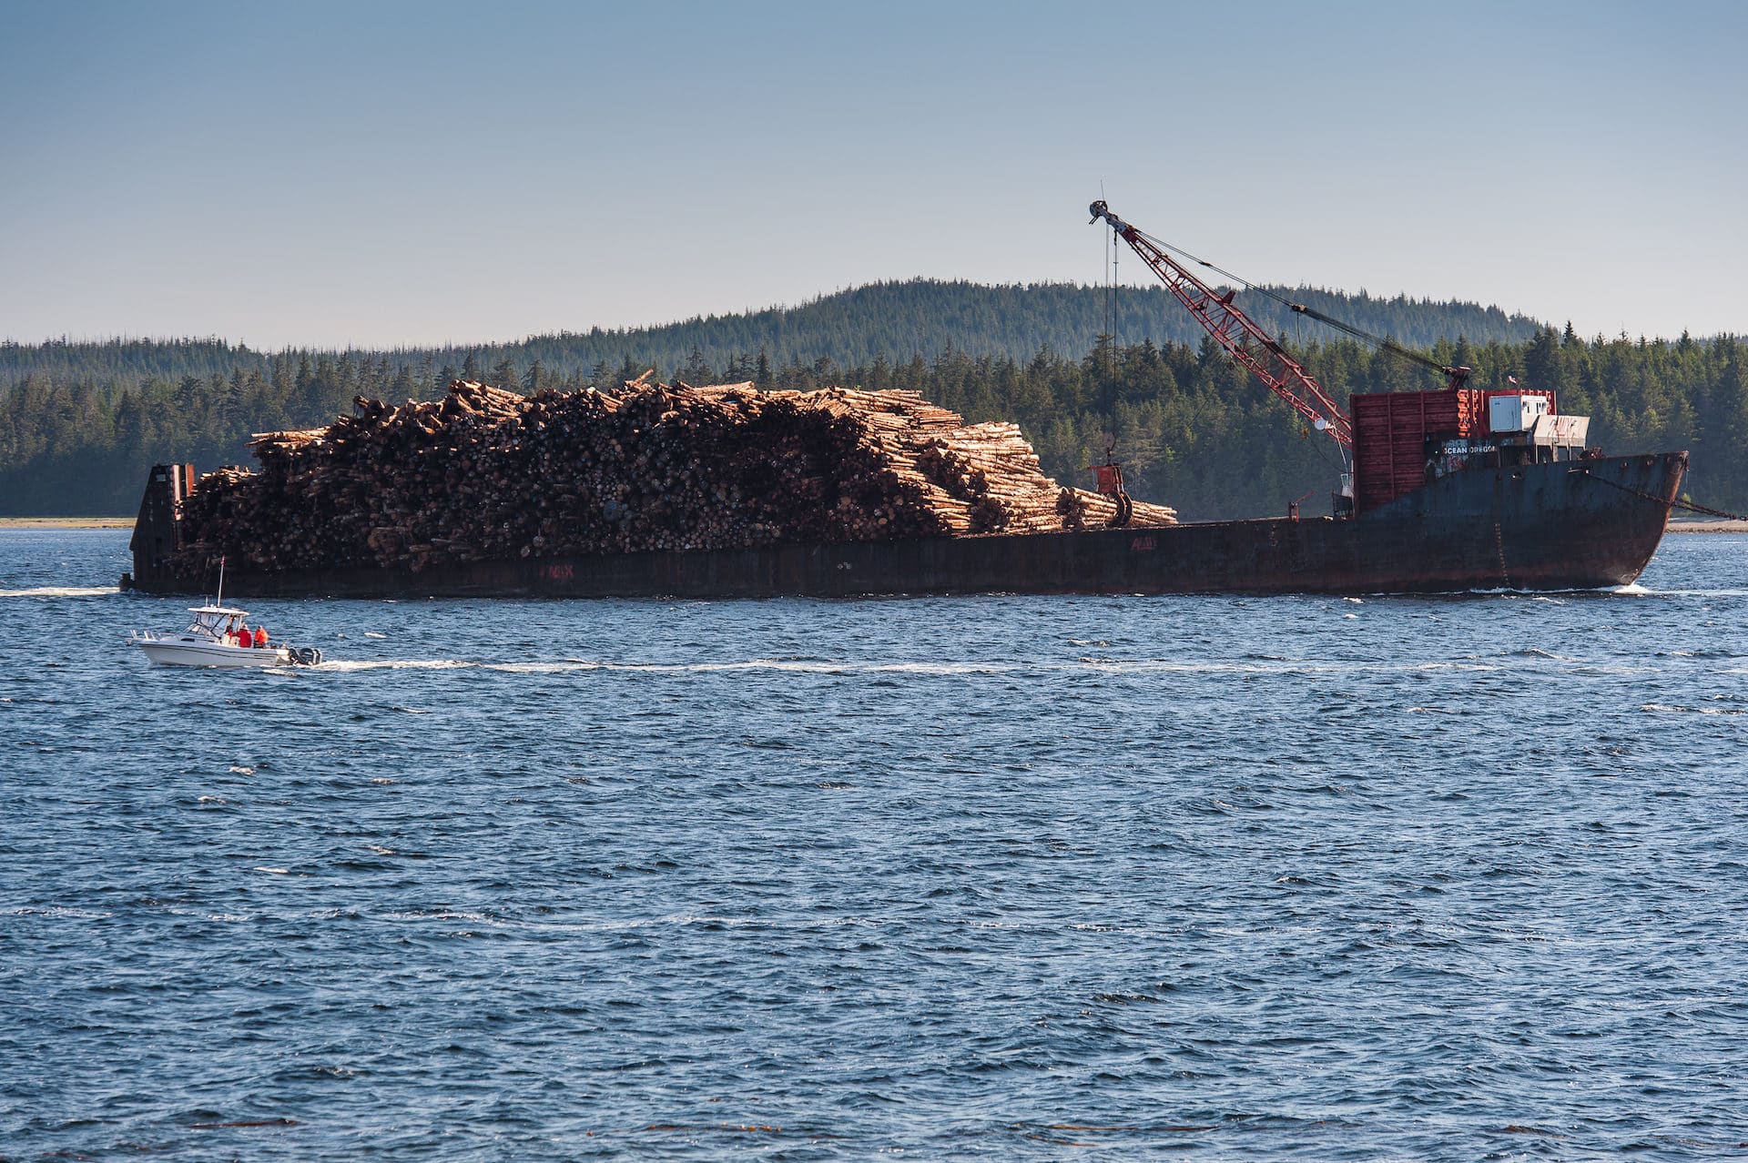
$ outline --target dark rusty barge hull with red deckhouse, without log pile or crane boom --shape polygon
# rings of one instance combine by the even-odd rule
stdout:
[[[1536,414],[1526,431],[1493,431],[1482,405],[1500,395],[1355,395],[1355,484],[1335,496],[1337,515],[1308,519],[1178,524],[1148,506],[1145,524],[1112,527],[1117,508],[1096,508],[1106,498],[1063,489],[1054,531],[1010,506],[1014,531],[262,568],[248,534],[191,540],[192,470],[159,465],[124,587],[198,594],[224,552],[227,587],[248,597],[1425,594],[1636,580],[1664,534],[1687,454],[1582,449],[1582,424],[1571,423],[1582,417],[1556,421],[1550,396],[1526,409]],[[199,489],[222,480],[213,473]],[[1077,519],[1080,527],[1063,527]]]

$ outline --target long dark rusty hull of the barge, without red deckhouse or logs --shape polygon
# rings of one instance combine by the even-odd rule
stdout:
[[[1426,594],[1626,585],[1657,550],[1685,452],[1470,468],[1349,519],[676,550],[225,575],[238,597],[853,597],[877,594]],[[149,594],[175,505],[147,487],[135,573]]]

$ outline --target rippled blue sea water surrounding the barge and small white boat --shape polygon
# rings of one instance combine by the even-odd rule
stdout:
[[[1748,538],[1627,592],[260,601],[0,531],[0,1158],[1748,1156]]]

